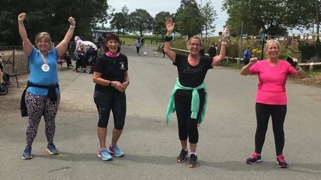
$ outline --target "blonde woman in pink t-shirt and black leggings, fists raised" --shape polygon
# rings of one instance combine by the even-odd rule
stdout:
[[[242,75],[258,74],[259,83],[255,98],[256,133],[255,151],[246,159],[246,163],[261,162],[261,151],[268,129],[270,116],[272,117],[274,140],[276,145],[277,163],[279,167],[286,168],[287,164],[282,155],[284,146],[283,124],[286,114],[285,83],[287,75],[303,79],[305,72],[297,65],[292,67],[288,62],[279,59],[280,43],[277,40],[268,40],[266,43],[268,59],[257,61],[251,58],[250,63],[241,69]],[[293,58],[297,61],[297,59]]]

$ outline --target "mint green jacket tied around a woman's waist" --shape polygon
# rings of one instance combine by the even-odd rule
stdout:
[[[205,101],[204,101],[203,109],[201,109],[201,119],[199,119],[199,122],[198,122],[199,124],[201,124],[201,122],[203,121],[204,116],[205,116],[206,102],[207,102],[207,90],[206,90],[205,82],[203,82],[200,86],[198,86],[196,88],[185,87],[185,86],[182,86],[181,83],[179,83],[178,78],[176,79],[174,89],[171,92],[170,97],[169,97],[169,103],[168,103],[167,111],[166,111],[166,124],[169,123],[172,113],[175,111],[174,94],[177,89],[193,90],[192,102],[191,102],[191,111],[192,111],[191,118],[194,118],[194,119],[197,118],[197,114],[198,114],[199,108],[200,108],[200,95],[199,95],[198,90],[204,89]]]

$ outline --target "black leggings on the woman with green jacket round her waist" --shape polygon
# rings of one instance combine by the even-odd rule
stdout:
[[[201,118],[201,109],[205,102],[205,92],[203,89],[198,90],[200,95],[200,110],[197,119],[191,118],[191,90],[177,90],[175,93],[175,110],[178,121],[179,140],[185,141],[187,137],[189,142],[196,144],[199,141],[198,120]]]

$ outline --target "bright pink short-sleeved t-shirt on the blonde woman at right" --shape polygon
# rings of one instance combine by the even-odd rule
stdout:
[[[268,60],[256,62],[249,69],[250,74],[259,74],[259,84],[255,98],[256,103],[268,105],[286,105],[285,83],[287,75],[296,72],[286,61],[279,60],[271,65]]]

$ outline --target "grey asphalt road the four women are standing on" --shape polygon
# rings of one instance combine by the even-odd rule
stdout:
[[[207,72],[208,103],[199,127],[199,167],[176,163],[181,147],[176,115],[165,125],[164,115],[177,77],[168,58],[156,57],[153,48],[122,47],[128,56],[130,85],[126,90],[127,115],[119,147],[124,157],[103,161],[97,157],[98,113],[93,102],[92,74],[59,70],[61,104],[56,117],[54,143],[59,155],[44,149],[44,121],[33,144],[31,160],[23,160],[27,118],[20,117],[23,86],[10,87],[0,97],[0,179],[28,180],[174,180],[174,179],[321,179],[321,89],[287,83],[288,106],[283,154],[287,169],[276,164],[270,121],[262,151],[263,162],[248,165],[254,150],[256,119],[254,97],[257,76],[215,67]],[[23,84],[26,75],[19,76]],[[111,142],[113,119],[108,125]]]

